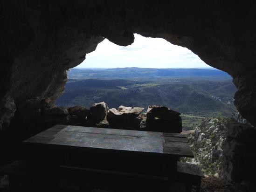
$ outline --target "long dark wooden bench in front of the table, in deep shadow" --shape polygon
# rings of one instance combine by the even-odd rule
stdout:
[[[79,190],[101,189],[111,191],[165,191],[167,177],[105,171],[69,166],[42,166],[36,163],[15,161],[0,170],[9,176],[10,192],[61,191],[65,186]]]

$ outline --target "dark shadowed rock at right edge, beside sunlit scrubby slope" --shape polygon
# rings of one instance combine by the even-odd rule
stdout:
[[[225,137],[227,139],[222,146],[221,176],[236,182],[255,182],[256,128],[232,122]]]

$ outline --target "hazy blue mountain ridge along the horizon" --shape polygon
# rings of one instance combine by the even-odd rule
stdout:
[[[213,69],[154,69],[154,68],[115,68],[115,69],[70,69],[70,79],[151,79],[166,77],[210,77],[231,79],[221,70]]]

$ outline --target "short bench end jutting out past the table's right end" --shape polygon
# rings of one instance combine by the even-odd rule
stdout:
[[[196,192],[200,192],[201,179],[204,175],[199,166],[177,162],[177,172],[178,181],[185,182],[187,192],[191,192],[192,186],[196,187]]]

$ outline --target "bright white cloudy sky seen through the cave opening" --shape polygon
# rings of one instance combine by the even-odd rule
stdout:
[[[134,34],[129,46],[118,46],[105,39],[95,51],[76,68],[208,68],[197,55],[187,48],[173,45],[161,38],[146,38]]]

